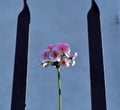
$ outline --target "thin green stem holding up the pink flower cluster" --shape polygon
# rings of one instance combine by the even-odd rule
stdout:
[[[61,92],[61,80],[60,80],[60,67],[57,67],[57,71],[58,71],[59,110],[62,110],[62,92]]]

